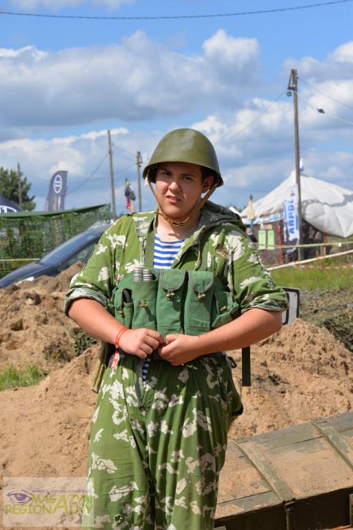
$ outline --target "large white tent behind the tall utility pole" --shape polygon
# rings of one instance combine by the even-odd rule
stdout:
[[[252,204],[255,223],[283,218],[283,196],[296,184],[293,171],[277,188]],[[301,174],[301,214],[321,232],[337,237],[353,235],[353,191]],[[247,222],[248,208],[241,212]]]

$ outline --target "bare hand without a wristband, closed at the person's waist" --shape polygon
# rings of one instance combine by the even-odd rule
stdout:
[[[158,353],[162,359],[173,366],[192,361],[201,355],[199,337],[192,335],[167,335],[165,344],[159,346]]]

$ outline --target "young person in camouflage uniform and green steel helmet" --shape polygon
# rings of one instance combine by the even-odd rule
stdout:
[[[223,180],[207,137],[168,133],[143,177],[156,211],[106,230],[65,298],[72,320],[116,348],[103,360],[83,525],[212,530],[228,429],[243,410],[225,351],[279,331],[288,303],[239,216],[208,200]],[[132,282],[140,267],[154,281]]]

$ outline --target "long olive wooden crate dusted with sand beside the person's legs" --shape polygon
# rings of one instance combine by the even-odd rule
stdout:
[[[228,444],[214,527],[353,526],[353,413]]]

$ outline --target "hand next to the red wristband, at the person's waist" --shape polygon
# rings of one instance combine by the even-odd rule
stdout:
[[[163,342],[163,335],[159,331],[147,328],[128,329],[121,335],[119,347],[126,353],[145,359]]]

